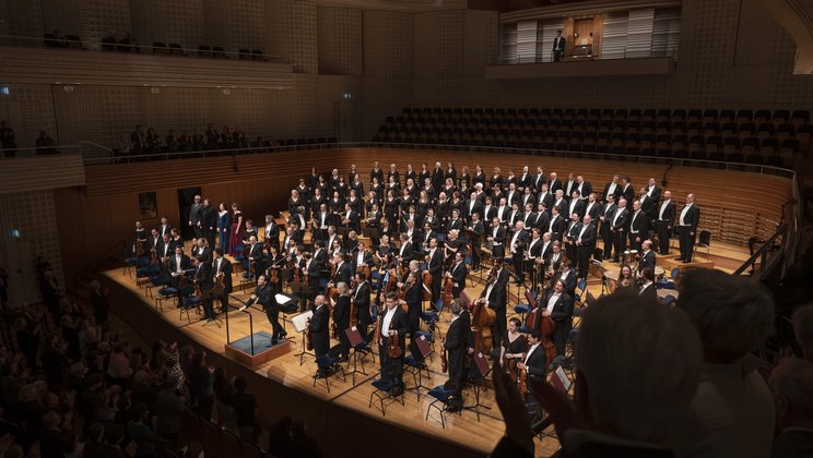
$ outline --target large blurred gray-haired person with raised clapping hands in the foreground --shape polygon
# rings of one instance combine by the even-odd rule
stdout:
[[[687,418],[702,358],[690,327],[683,312],[634,291],[604,297],[587,309],[577,345],[575,406],[551,385],[530,381],[563,443],[562,457],[675,455],[674,432]],[[498,367],[493,374],[507,436],[492,456],[532,456],[525,402],[508,375]]]

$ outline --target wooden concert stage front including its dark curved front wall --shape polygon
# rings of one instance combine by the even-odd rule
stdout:
[[[148,342],[157,339],[178,340],[181,345],[190,343],[197,349],[204,349],[211,364],[222,365],[227,374],[243,375],[249,382],[249,390],[257,395],[260,402],[260,415],[263,427],[268,429],[283,414],[304,418],[308,429],[320,443],[326,456],[356,455],[361,450],[386,449],[391,457],[413,457],[415,454],[432,454],[436,456],[475,457],[485,456],[496,445],[505,431],[505,424],[494,400],[494,391],[490,387],[481,394],[481,402],[490,409],[482,408],[480,421],[473,411],[463,411],[462,415],[446,417],[446,429],[440,424],[437,411],[433,409],[428,420],[426,412],[434,400],[426,395],[428,388],[443,385],[447,374],[440,371],[439,353],[433,354],[428,363],[429,378],[425,373],[424,387],[420,390],[420,400],[414,388],[415,382],[409,372],[404,372],[403,381],[406,385],[405,405],[390,403],[386,408],[386,415],[376,410],[376,403],[369,406],[370,394],[374,391],[370,382],[379,375],[378,357],[373,362],[372,355],[364,360],[366,374],[347,373],[346,382],[341,376],[331,377],[330,393],[326,389],[323,379],[314,386],[313,375],[316,363],[313,355],[306,354],[299,365],[302,336],[293,330],[290,322],[285,323],[288,337],[293,337],[291,352],[262,364],[256,370],[239,364],[229,359],[224,351],[226,343],[225,322],[223,327],[215,324],[203,326],[205,322],[197,321],[199,316],[191,311],[191,323],[186,313],[180,316],[174,301],[163,303],[163,312],[155,308],[152,297],[149,297],[143,286],[136,285],[133,277],[126,276],[121,268],[102,273],[102,281],[110,289],[114,312],[132,326]],[[237,280],[238,274],[235,274]],[[235,281],[237,285],[237,281]],[[471,289],[471,293],[479,294],[481,286]],[[157,296],[157,289],[151,292]],[[232,294],[235,299],[245,300],[250,291],[237,291]],[[237,300],[232,300],[233,306],[239,306]],[[269,332],[270,324],[266,314],[257,309],[249,309],[254,318],[254,330]],[[221,315],[222,317],[222,315]],[[449,314],[444,312],[440,328],[445,334],[448,327]],[[231,339],[237,340],[248,336],[248,317],[245,313],[233,309],[228,314]],[[331,345],[337,341],[333,340]],[[256,341],[257,343],[257,341]],[[440,343],[435,342],[437,352]],[[376,350],[377,352],[377,350]],[[346,365],[345,365],[346,367]],[[352,358],[349,371],[353,370]],[[357,365],[362,370],[362,365]],[[468,389],[466,403],[473,400],[473,390]],[[380,443],[380,446],[374,445]],[[558,448],[554,438],[537,439],[537,456],[550,456]],[[355,453],[351,453],[355,450]],[[330,451],[329,451],[330,450]],[[342,450],[342,451],[338,451]],[[364,454],[363,454],[364,455]]]

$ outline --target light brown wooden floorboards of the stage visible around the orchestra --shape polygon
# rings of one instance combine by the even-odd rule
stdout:
[[[676,254],[676,249],[672,250]],[[670,257],[675,257],[670,256]],[[732,272],[744,260],[749,257],[747,248],[740,248],[731,244],[715,243],[708,253],[698,253],[696,260],[705,262],[706,260],[712,261],[716,268],[722,270]],[[665,256],[659,256],[658,265],[668,268]],[[608,270],[613,268],[617,269],[618,265],[604,261],[603,267]],[[487,272],[483,273],[483,277]],[[108,277],[110,280],[118,282],[120,286],[129,289],[134,296],[142,299],[144,308],[151,310],[153,313],[157,313],[168,324],[185,333],[187,337],[197,341],[200,346],[208,349],[210,352],[214,352],[221,355],[225,354],[224,345],[226,342],[226,328],[225,323],[223,327],[217,327],[213,324],[203,326],[205,322],[199,321],[200,316],[192,311],[190,313],[191,323],[188,322],[186,314],[181,317],[178,309],[173,301],[164,303],[163,311],[160,311],[154,305],[154,300],[149,297],[144,286],[137,286],[133,276],[125,275],[122,268],[116,268],[102,273],[102,275]],[[235,299],[246,300],[252,289],[240,291],[239,285],[239,273],[234,274],[234,285],[236,291],[232,293],[234,298],[231,303],[232,305],[239,305]],[[470,277],[474,278],[474,285],[467,286],[467,294],[469,297],[478,297],[482,291],[483,284],[480,280],[479,273],[470,274]],[[518,288],[510,285],[509,292],[509,304],[508,304],[508,317],[514,315],[512,305],[517,303]],[[601,278],[591,276],[588,279],[588,289],[596,297],[602,291]],[[152,290],[155,294],[156,289]],[[427,304],[427,303],[425,303]],[[249,309],[254,320],[254,332],[269,332],[270,324],[266,317],[266,314],[261,310]],[[221,315],[222,317],[222,315]],[[439,328],[445,335],[450,321],[450,313],[444,311]],[[314,387],[313,375],[316,372],[316,363],[314,357],[305,357],[304,364],[299,364],[299,357],[297,353],[302,349],[302,336],[293,332],[291,323],[285,324],[288,332],[288,337],[294,337],[292,351],[288,354],[272,360],[258,369],[256,373],[264,376],[275,383],[282,384],[286,387],[291,387],[302,393],[306,393],[311,397],[319,398],[328,402],[334,402],[339,406],[353,409],[362,414],[369,415],[381,422],[389,422],[397,424],[399,427],[420,432],[422,434],[434,435],[443,437],[446,441],[453,441],[460,443],[466,448],[474,449],[483,455],[487,455],[492,448],[496,445],[499,438],[504,435],[505,424],[499,414],[496,401],[494,399],[494,391],[491,387],[491,381],[488,382],[490,387],[485,393],[481,394],[481,403],[485,406],[480,412],[480,420],[478,421],[476,414],[470,410],[463,410],[462,415],[458,414],[446,414],[446,429],[440,424],[440,420],[437,417],[437,412],[433,411],[428,420],[425,420],[427,408],[432,402],[433,398],[425,396],[426,390],[422,389],[420,400],[415,390],[410,389],[414,387],[413,377],[409,373],[404,373],[403,381],[406,385],[406,394],[404,395],[405,405],[401,406],[400,402],[391,403],[386,409],[386,415],[382,417],[379,410],[374,407],[368,407],[370,394],[374,388],[370,382],[376,379],[379,375],[378,359],[376,355],[376,363],[373,362],[372,357],[367,355],[364,361],[365,374],[356,374],[355,385],[352,382],[352,377],[349,375],[346,382],[342,382],[341,377],[332,377],[330,381],[330,393],[327,391],[325,384],[320,381],[316,387]],[[236,340],[249,335],[249,320],[245,313],[238,313],[232,311],[228,314],[228,327],[231,333],[231,339]],[[333,340],[331,345],[337,343]],[[440,370],[440,358],[439,351],[440,343],[436,341],[434,343],[435,353],[427,359],[431,378],[424,379],[423,385],[427,387],[435,387],[444,384],[447,381],[448,375],[443,373]],[[351,360],[352,361],[352,360]],[[351,366],[352,369],[352,366]],[[360,366],[361,369],[361,366]],[[473,390],[468,388],[464,391],[464,405],[469,405],[473,401]],[[262,407],[261,407],[262,408]],[[266,425],[268,426],[268,425]],[[553,434],[553,429],[549,427],[545,433]],[[555,453],[558,447],[558,441],[555,437],[546,436],[543,438],[535,438],[535,455],[539,457],[547,457]]]

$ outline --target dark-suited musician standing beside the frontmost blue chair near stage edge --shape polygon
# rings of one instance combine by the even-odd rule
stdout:
[[[462,408],[463,384],[466,383],[466,354],[469,351],[474,351],[474,338],[469,321],[461,320],[460,314],[464,308],[459,299],[451,302],[450,310],[451,322],[444,339],[444,351],[446,351],[449,364],[449,379],[444,384],[444,387],[455,390],[455,396],[451,399],[448,410],[450,412],[457,412]]]

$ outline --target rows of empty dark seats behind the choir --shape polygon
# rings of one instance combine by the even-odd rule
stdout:
[[[404,108],[374,142],[558,149],[787,167],[811,147],[808,111]]]

